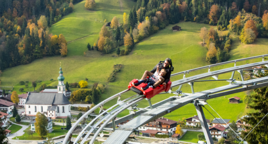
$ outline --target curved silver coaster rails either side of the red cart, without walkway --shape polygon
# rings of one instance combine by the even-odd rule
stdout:
[[[200,79],[203,79],[203,78],[206,78],[206,77],[211,77],[211,76],[214,76],[214,75],[220,75],[220,74],[223,74],[223,73],[228,73],[228,72],[233,72],[233,71],[236,71],[236,70],[241,70],[241,69],[245,69],[245,68],[248,68],[248,67],[255,67],[255,66],[260,66],[260,65],[267,65],[268,62],[267,61],[264,61],[264,56],[268,56],[267,55],[261,55],[261,56],[254,56],[254,57],[250,57],[250,58],[242,58],[242,59],[238,59],[238,60],[233,60],[233,61],[227,61],[227,62],[223,62],[223,63],[219,63],[219,64],[213,64],[213,65],[209,65],[209,66],[204,66],[204,67],[200,67],[200,68],[196,68],[196,69],[191,69],[191,70],[187,70],[187,71],[183,71],[183,72],[178,72],[178,73],[175,73],[175,74],[172,74],[172,76],[176,76],[176,75],[180,75],[180,74],[186,74],[186,73],[189,73],[189,72],[193,72],[193,71],[197,71],[197,70],[201,70],[201,69],[205,69],[205,68],[209,68],[209,72],[208,73],[204,73],[204,74],[200,74],[200,75],[195,75],[195,76],[192,76],[192,77],[188,77],[188,78],[184,78],[184,79],[181,79],[181,80],[176,80],[174,82],[172,82],[172,86],[171,88],[173,87],[176,87],[176,86],[179,86],[179,85],[183,85],[185,83],[189,83],[189,82],[193,82],[193,81],[196,81],[196,80],[200,80]],[[238,61],[245,61],[245,60],[249,60],[249,59],[255,59],[255,58],[263,58],[263,62],[258,62],[258,63],[253,63],[253,64],[246,64],[246,65],[242,65],[242,66],[236,66],[236,62]],[[227,68],[227,69],[222,69],[222,70],[217,70],[217,71],[213,71],[213,72],[210,72],[210,67],[216,67],[216,66],[220,66],[220,65],[224,65],[224,64],[230,64],[230,63],[235,63],[235,66],[236,67],[231,67],[231,68]],[[105,104],[106,102],[109,102],[110,100],[116,98],[117,96],[129,91],[129,89],[125,90],[125,91],[122,91],[118,94],[115,94],[107,99],[105,99],[104,101],[100,102],[98,105],[96,105],[95,107],[93,107],[92,109],[90,109],[88,112],[86,112],[84,115],[82,115],[81,118],[79,118],[77,120],[77,122],[71,127],[71,129],[68,131],[68,133],[66,134],[66,137],[64,138],[63,140],[63,144],[66,144],[67,140],[68,140],[68,137],[70,136],[71,132],[74,130],[74,128],[80,123],[80,121],[82,121],[82,119],[84,117],[86,117],[89,113],[93,112],[94,110],[96,110],[99,106]],[[136,95],[134,95],[136,96]],[[125,102],[131,98],[133,98],[134,96],[131,96],[123,101],[121,101],[120,103],[116,104],[116,105],[120,105],[119,107],[116,107],[116,105],[113,105],[112,107],[110,107],[108,110],[111,110],[112,108],[116,107],[114,110],[112,110],[111,112],[109,112],[107,114],[107,116],[104,116],[100,121],[104,121],[106,118],[107,121],[105,121],[104,124],[102,124],[99,129],[97,130],[97,132],[94,134],[94,137],[91,139],[91,143],[94,142],[96,136],[99,134],[99,132],[106,126],[106,124],[109,123],[109,121],[113,118],[115,118],[121,111],[127,109],[128,107],[130,107],[132,104],[135,104],[136,102],[139,102],[141,101],[142,99],[144,99],[144,97],[139,97],[139,98],[135,98],[134,101],[131,101],[131,103],[128,103],[128,102]],[[131,105],[130,105],[131,104]],[[105,110],[103,113],[99,114],[94,120],[92,120],[89,124],[87,124],[87,126],[82,130],[82,132],[80,132],[79,136],[77,137],[77,139],[75,140],[75,142],[77,142],[77,140],[79,140],[83,134],[85,134],[86,132],[88,132],[87,136],[90,134],[90,132],[92,132],[94,129],[96,129],[96,127],[101,123],[101,122],[97,122],[96,124],[94,124],[96,122],[96,120],[101,116],[103,115],[104,113],[106,113],[108,110]],[[118,111],[117,111],[118,110]],[[114,113],[115,112],[115,113]],[[113,115],[111,115],[111,113],[114,113]],[[92,124],[94,124],[94,126],[92,126]],[[92,126],[92,127],[91,127]],[[91,127],[91,130],[90,131],[87,131],[86,129],[88,127]],[[86,138],[85,137],[85,138]],[[85,141],[85,138],[84,140],[82,141],[82,143],[84,143]],[[93,141],[93,142],[92,142]],[[82,144],[81,143],[81,144]]]

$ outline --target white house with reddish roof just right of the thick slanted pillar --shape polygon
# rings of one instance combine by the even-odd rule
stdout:
[[[209,128],[211,137],[216,137],[217,141],[224,137],[227,138],[227,133],[224,132],[225,127],[219,124],[216,124]]]

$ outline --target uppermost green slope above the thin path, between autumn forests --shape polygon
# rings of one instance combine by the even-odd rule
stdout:
[[[96,0],[94,11],[86,10],[84,5],[85,0],[74,5],[74,12],[55,23],[50,31],[57,35],[63,34],[67,42],[99,33],[105,19],[109,22],[116,16],[123,23],[123,13],[128,14],[135,2],[129,0]]]

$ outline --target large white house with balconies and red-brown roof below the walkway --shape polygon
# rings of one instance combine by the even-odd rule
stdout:
[[[139,131],[146,131],[147,129],[164,131],[167,133],[174,134],[176,131],[178,121],[173,121],[167,118],[158,118],[154,121],[149,122],[148,124],[139,127]]]

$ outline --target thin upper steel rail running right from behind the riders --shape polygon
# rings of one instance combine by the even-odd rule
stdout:
[[[204,67],[199,67],[199,68],[190,69],[190,70],[186,70],[186,71],[182,71],[182,72],[177,72],[177,73],[174,73],[174,74],[170,75],[170,77],[174,77],[174,76],[181,75],[181,74],[186,74],[186,73],[189,73],[189,72],[194,72],[194,71],[201,70],[201,69],[221,66],[221,65],[224,65],[224,64],[231,64],[231,63],[236,63],[236,62],[239,62],[239,61],[245,61],[245,60],[250,60],[250,59],[255,59],[255,58],[264,58],[266,56],[268,56],[268,54],[260,55],[260,56],[253,56],[253,57],[249,57],[249,58],[241,58],[241,59],[237,59],[237,60],[233,60],[233,61],[226,61],[226,62],[222,62],[222,63],[218,63],[218,64],[211,64],[211,65],[204,66]]]

